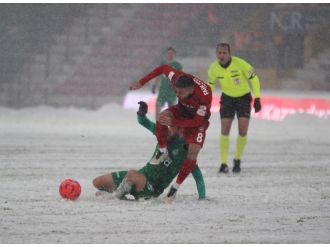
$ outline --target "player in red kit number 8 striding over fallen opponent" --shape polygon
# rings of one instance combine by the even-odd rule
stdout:
[[[157,119],[156,137],[160,148],[150,163],[158,165],[168,158],[166,148],[168,126],[180,128],[189,145],[187,158],[183,161],[176,182],[172,184],[167,194],[167,199],[173,200],[179,186],[196,166],[199,151],[203,147],[206,130],[209,126],[208,119],[211,116],[212,91],[209,85],[201,79],[176,70],[169,65],[155,68],[142,79],[133,82],[129,89],[139,89],[160,74],[165,74],[171,81],[178,97],[178,104],[161,112]]]

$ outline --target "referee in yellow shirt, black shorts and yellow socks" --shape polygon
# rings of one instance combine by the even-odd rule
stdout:
[[[253,107],[255,112],[259,112],[261,110],[260,82],[249,63],[239,57],[231,56],[229,44],[217,44],[216,54],[217,60],[210,65],[208,70],[208,83],[214,91],[218,81],[222,90],[220,99],[221,135],[219,138],[221,165],[219,173],[228,173],[229,171],[229,134],[235,115],[238,119],[238,136],[232,171],[239,173],[241,171],[241,156],[247,142],[251,113],[250,84],[254,95]]]

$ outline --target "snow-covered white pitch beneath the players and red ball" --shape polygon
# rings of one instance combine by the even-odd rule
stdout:
[[[207,200],[189,177],[172,204],[119,201],[95,197],[92,179],[152,155],[134,110],[0,108],[0,243],[330,243],[330,119],[253,119],[239,175],[217,174],[218,135],[215,113],[199,158]],[[65,178],[82,185],[75,202],[59,196]]]

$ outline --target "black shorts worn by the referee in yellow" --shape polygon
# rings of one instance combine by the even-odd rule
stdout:
[[[251,114],[251,93],[247,93],[240,97],[230,97],[224,93],[220,99],[220,118],[250,118]]]

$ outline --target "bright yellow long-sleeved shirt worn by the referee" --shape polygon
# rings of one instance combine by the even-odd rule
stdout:
[[[253,67],[239,57],[232,56],[231,63],[223,68],[218,60],[215,60],[208,70],[208,83],[214,91],[217,81],[221,90],[228,96],[240,97],[251,91],[248,81],[251,82],[253,94],[260,97],[260,82]]]

